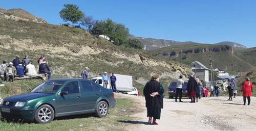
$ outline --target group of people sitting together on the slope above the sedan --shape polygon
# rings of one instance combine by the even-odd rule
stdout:
[[[31,59],[28,55],[25,55],[23,60],[19,59],[19,56],[16,56],[12,62],[6,65],[6,61],[3,61],[3,64],[0,66],[0,76],[4,81],[11,81],[13,82],[14,77],[24,77],[26,76],[33,76],[37,75],[35,66],[33,65]],[[39,65],[39,74],[48,74],[48,80],[51,78],[51,71],[48,65],[48,62],[44,55],[41,55],[37,61]],[[4,75],[4,77],[2,77]]]

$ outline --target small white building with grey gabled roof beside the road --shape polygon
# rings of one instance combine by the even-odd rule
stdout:
[[[209,68],[198,61],[193,61],[190,64],[190,67],[194,70],[200,80],[203,80],[206,83],[209,82]]]

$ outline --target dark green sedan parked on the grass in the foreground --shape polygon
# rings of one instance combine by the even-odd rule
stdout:
[[[57,79],[41,83],[31,92],[5,98],[2,119],[49,123],[55,117],[95,113],[105,117],[116,100],[111,89],[90,80]]]

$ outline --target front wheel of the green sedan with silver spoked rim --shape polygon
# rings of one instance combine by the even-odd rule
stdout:
[[[50,123],[54,119],[54,110],[51,106],[44,104],[35,112],[35,121],[37,123]]]

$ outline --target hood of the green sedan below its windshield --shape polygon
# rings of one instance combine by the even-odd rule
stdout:
[[[29,93],[26,93],[26,94],[20,94],[20,95],[14,95],[14,96],[11,96],[11,97],[7,97],[4,100],[5,101],[11,101],[11,102],[27,101],[27,100],[40,98],[40,97],[44,97],[44,96],[49,96],[49,95],[53,95],[53,94],[29,92]]]

